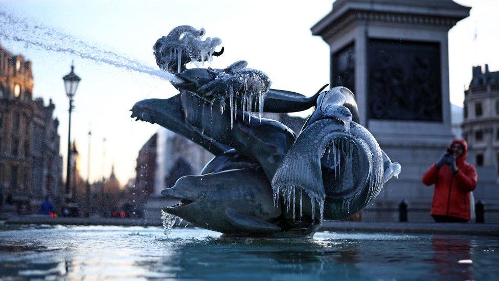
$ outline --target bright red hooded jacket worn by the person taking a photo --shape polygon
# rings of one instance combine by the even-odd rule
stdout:
[[[447,215],[469,220],[469,192],[477,187],[477,170],[466,163],[468,144],[464,140],[453,140],[450,146],[460,143],[464,153],[456,159],[458,172],[452,175],[449,165],[438,169],[433,164],[423,175],[425,185],[435,184],[432,212],[436,215]]]

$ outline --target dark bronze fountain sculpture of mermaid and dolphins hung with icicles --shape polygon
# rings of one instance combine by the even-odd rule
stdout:
[[[157,123],[215,157],[200,176],[178,179],[162,194],[178,199],[163,211],[234,236],[307,237],[323,220],[341,220],[373,200],[400,172],[359,124],[355,97],[344,87],[315,95],[270,89],[265,73],[237,61],[199,68],[220,56],[219,38],[174,28],[153,46],[157,65],[175,75],[179,94],[135,103],[131,117]],[[193,62],[196,68],[187,69]],[[301,132],[263,118],[314,106]],[[173,217],[173,218],[176,218]],[[174,221],[174,220],[173,220]],[[171,222],[171,221],[170,221]]]

